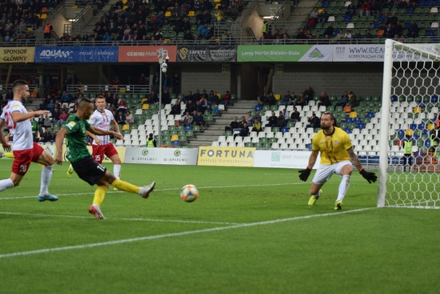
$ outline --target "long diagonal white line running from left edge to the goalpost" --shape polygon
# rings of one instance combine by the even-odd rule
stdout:
[[[364,210],[371,210],[376,207],[368,207],[368,208],[361,208],[359,210],[349,210],[344,212],[332,212],[327,214],[313,214],[309,216],[295,216],[292,218],[278,218],[276,220],[266,220],[256,223],[243,223],[239,225],[230,225],[228,227],[212,227],[210,229],[197,229],[195,231],[181,231],[179,233],[170,233],[170,234],[162,234],[162,235],[155,235],[155,236],[145,236],[145,237],[139,237],[139,238],[129,238],[129,239],[122,239],[122,240],[113,240],[113,241],[107,241],[107,242],[99,242],[99,243],[91,243],[91,244],[84,244],[84,245],[74,245],[74,246],[66,246],[66,247],[56,247],[56,248],[46,248],[46,249],[38,249],[38,250],[31,250],[31,251],[20,251],[20,252],[13,252],[13,253],[5,253],[0,254],[0,258],[12,258],[16,256],[28,256],[32,254],[40,254],[40,253],[48,253],[48,252],[56,252],[56,251],[67,251],[67,250],[74,250],[74,249],[85,249],[85,248],[93,248],[93,247],[102,247],[102,246],[109,246],[109,245],[118,245],[122,243],[129,243],[129,242],[140,242],[144,240],[155,240],[155,239],[161,239],[161,238],[169,238],[169,237],[177,237],[177,236],[186,236],[191,234],[201,234],[201,233],[209,233],[211,231],[223,231],[225,229],[239,229],[241,227],[254,227],[256,225],[270,225],[273,223],[284,223],[290,220],[303,220],[307,218],[318,218],[318,217],[324,217],[324,216],[339,216],[341,214],[350,214],[353,212],[362,212]]]

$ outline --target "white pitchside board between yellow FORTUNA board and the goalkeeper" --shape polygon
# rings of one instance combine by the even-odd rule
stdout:
[[[309,165],[310,154],[311,151],[256,150],[254,167],[304,169]],[[320,160],[318,155],[314,169],[318,168]]]

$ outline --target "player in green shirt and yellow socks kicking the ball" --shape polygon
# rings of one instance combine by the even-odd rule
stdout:
[[[120,133],[113,131],[105,131],[95,128],[87,120],[94,112],[94,103],[89,99],[82,99],[78,104],[78,110],[74,115],[70,115],[66,124],[56,134],[56,157],[55,161],[59,165],[63,164],[63,139],[66,137],[67,142],[67,159],[72,163],[75,172],[80,179],[86,181],[90,185],[98,185],[96,188],[93,204],[89,207],[89,212],[94,214],[95,218],[104,218],[100,206],[104,201],[105,194],[109,189],[109,185],[118,190],[137,193],[143,198],[148,198],[150,192],[153,191],[155,182],[145,187],[137,187],[131,183],[116,179],[116,177],[107,171],[104,166],[94,161],[91,157],[86,144],[86,132],[95,135],[113,135],[118,139],[122,139]]]

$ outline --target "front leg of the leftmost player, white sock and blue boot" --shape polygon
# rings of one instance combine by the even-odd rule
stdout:
[[[49,184],[52,179],[52,172],[54,171],[54,157],[39,144],[34,143],[32,162],[43,164],[44,166],[43,170],[41,170],[40,194],[38,196],[39,201],[57,201],[58,197],[49,193]]]

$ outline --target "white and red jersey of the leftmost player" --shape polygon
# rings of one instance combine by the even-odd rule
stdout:
[[[30,120],[15,123],[12,120],[12,113],[28,113],[21,101],[10,100],[1,113],[0,119],[5,121],[14,141],[12,142],[13,150],[28,150],[34,147],[34,137],[32,136],[32,125]]]

